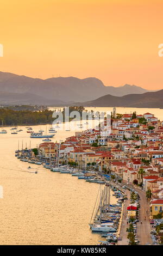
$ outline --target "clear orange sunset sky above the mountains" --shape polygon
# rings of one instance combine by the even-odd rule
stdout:
[[[163,89],[163,1],[1,0],[0,70]]]

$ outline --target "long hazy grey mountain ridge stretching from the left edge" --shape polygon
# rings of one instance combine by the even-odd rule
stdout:
[[[145,92],[147,90],[137,86],[130,86],[129,84],[125,84],[122,87],[104,86],[103,82],[95,77],[84,79],[53,77],[42,80],[0,72],[0,103],[2,101],[10,103],[13,100],[15,102],[23,100],[26,101],[24,103],[28,104],[28,102],[35,103],[34,101],[36,100],[37,102],[42,101],[40,104],[62,105],[71,102],[95,100],[97,97],[106,94],[123,96],[131,93],[141,94]],[[7,95],[7,93],[9,94]],[[27,95],[27,98],[24,99],[25,95]],[[11,99],[11,97],[14,98]]]

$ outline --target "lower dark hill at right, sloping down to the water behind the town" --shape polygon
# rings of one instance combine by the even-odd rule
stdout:
[[[143,94],[129,94],[122,97],[105,95],[96,100],[76,103],[84,107],[142,107],[163,108],[163,90]]]

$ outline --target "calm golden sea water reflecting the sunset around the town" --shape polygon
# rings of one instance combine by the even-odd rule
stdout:
[[[111,108],[90,108],[110,111]],[[133,111],[154,113],[162,119],[163,109],[117,108],[117,113]],[[19,128],[19,127],[18,127]],[[70,174],[53,173],[42,166],[21,162],[15,157],[18,148],[39,145],[41,139],[30,139],[27,129],[11,135],[0,134],[0,244],[1,245],[96,245],[101,236],[92,234],[89,221],[99,185],[91,184]],[[34,131],[46,131],[46,126],[33,126]],[[47,126],[47,129],[49,125]],[[58,131],[53,142],[64,140],[74,132]],[[111,197],[112,203],[115,198]]]

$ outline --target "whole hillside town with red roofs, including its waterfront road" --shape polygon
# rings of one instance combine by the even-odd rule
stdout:
[[[54,172],[59,171],[59,166],[69,166],[78,172],[62,169],[61,173],[80,175],[79,178],[86,181],[106,184],[105,181],[110,180],[111,188],[117,191],[115,196],[121,197],[118,199],[121,204],[123,198],[130,198],[124,201],[126,203],[121,216],[123,227],[121,224],[119,239],[123,238],[118,244],[132,245],[137,241],[135,235],[134,242],[129,242],[126,234],[126,230],[129,230],[128,221],[133,217],[134,225],[139,220],[142,224],[141,228],[140,224],[137,224],[141,245],[151,241],[151,232],[154,232],[151,234],[153,244],[158,244],[155,230],[152,230],[152,227],[156,228],[158,225],[158,239],[162,244],[163,121],[158,120],[151,113],[116,114],[114,108],[110,124],[108,128],[104,121],[100,129],[78,131],[74,136],[67,137],[65,141],[43,142],[37,149],[30,151],[30,161],[29,159],[24,161],[45,163],[44,167],[51,168]],[[24,156],[26,157],[26,152],[23,153]],[[18,157],[21,158],[22,155]],[[91,177],[86,176],[86,173],[91,173]],[[92,173],[96,173],[97,177],[95,178]],[[115,185],[117,188],[114,187]],[[133,209],[136,211],[132,211]]]

